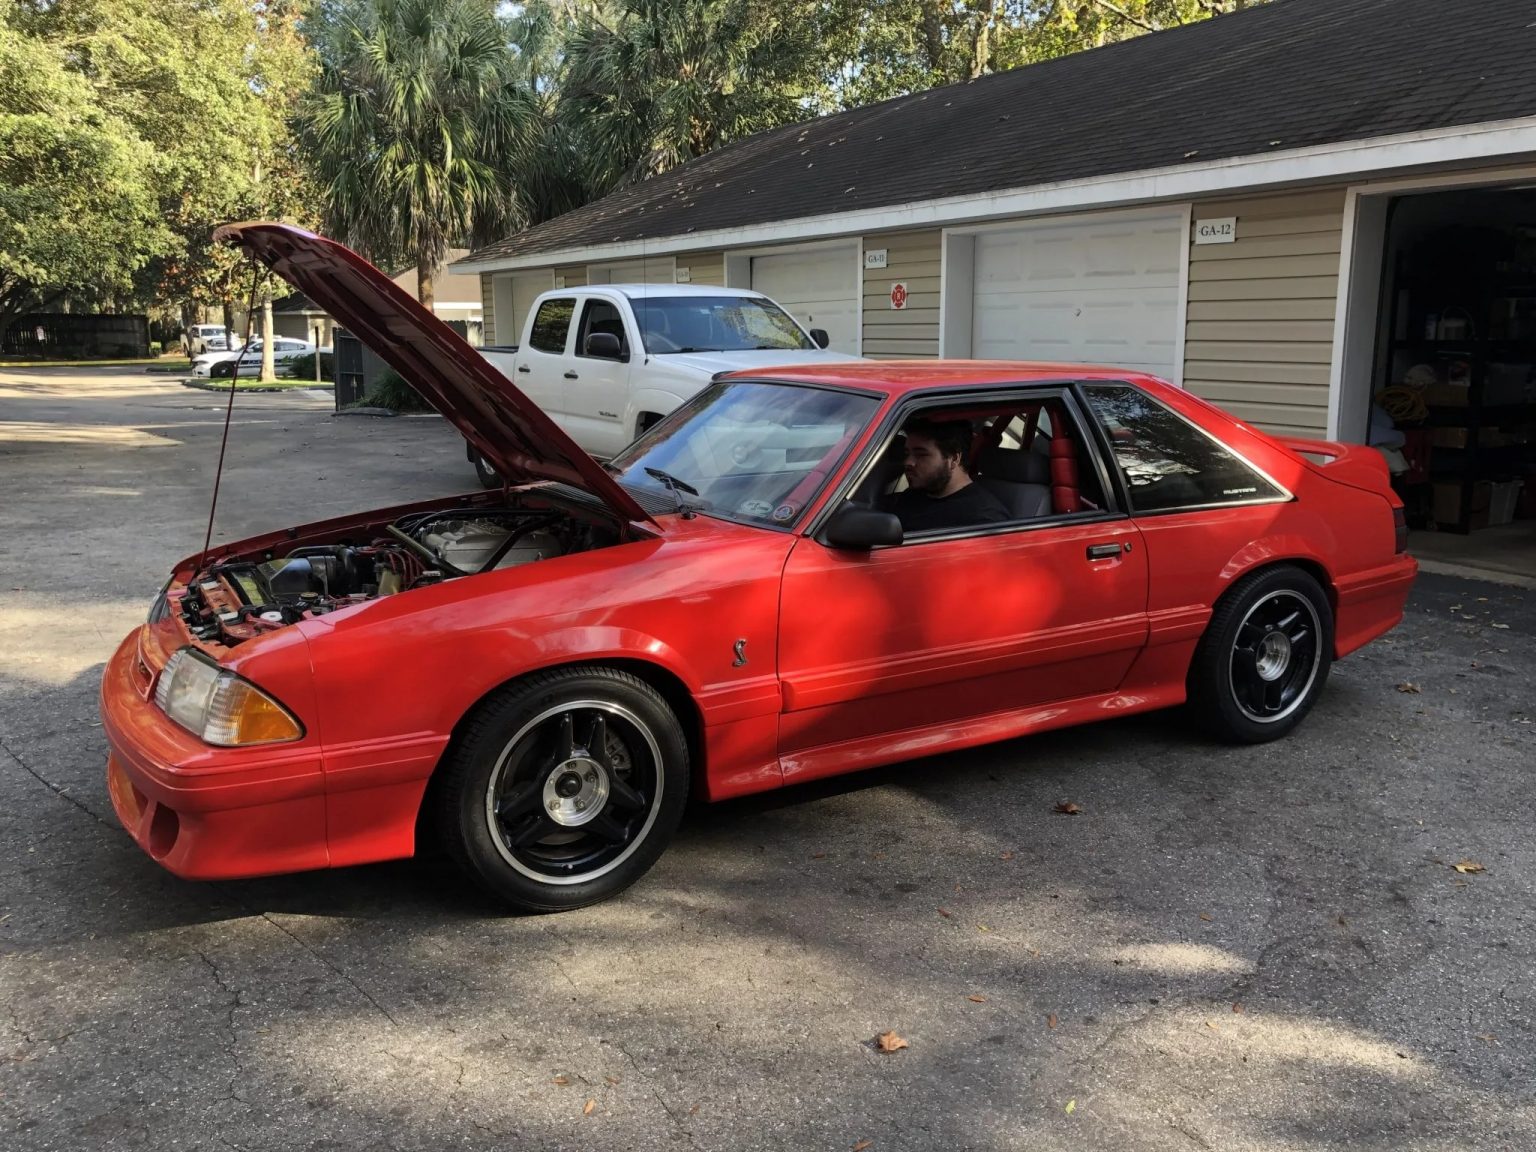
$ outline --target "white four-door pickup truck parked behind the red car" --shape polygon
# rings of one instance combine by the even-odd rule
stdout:
[[[481,355],[582,449],[617,453],[719,372],[856,359],[826,350],[759,292],[699,284],[594,284],[533,301],[522,341]],[[481,482],[499,481],[479,455]]]

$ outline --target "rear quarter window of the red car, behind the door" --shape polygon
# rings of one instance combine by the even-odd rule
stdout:
[[[1132,511],[1283,501],[1286,493],[1217,439],[1129,384],[1089,384]]]

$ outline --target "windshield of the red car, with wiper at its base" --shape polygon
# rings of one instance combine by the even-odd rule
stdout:
[[[799,384],[714,384],[608,468],[680,507],[786,528],[879,407],[872,396]]]

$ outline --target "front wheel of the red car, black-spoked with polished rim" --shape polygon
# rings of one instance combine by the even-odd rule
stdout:
[[[508,685],[468,720],[442,773],[433,803],[450,859],[530,912],[622,892],[656,863],[688,803],[677,717],[654,688],[614,668]]]

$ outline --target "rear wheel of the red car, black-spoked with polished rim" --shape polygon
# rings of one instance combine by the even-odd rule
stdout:
[[[1232,743],[1290,733],[1316,703],[1333,664],[1333,611],[1310,573],[1264,568],[1217,604],[1189,670],[1197,720]]]

